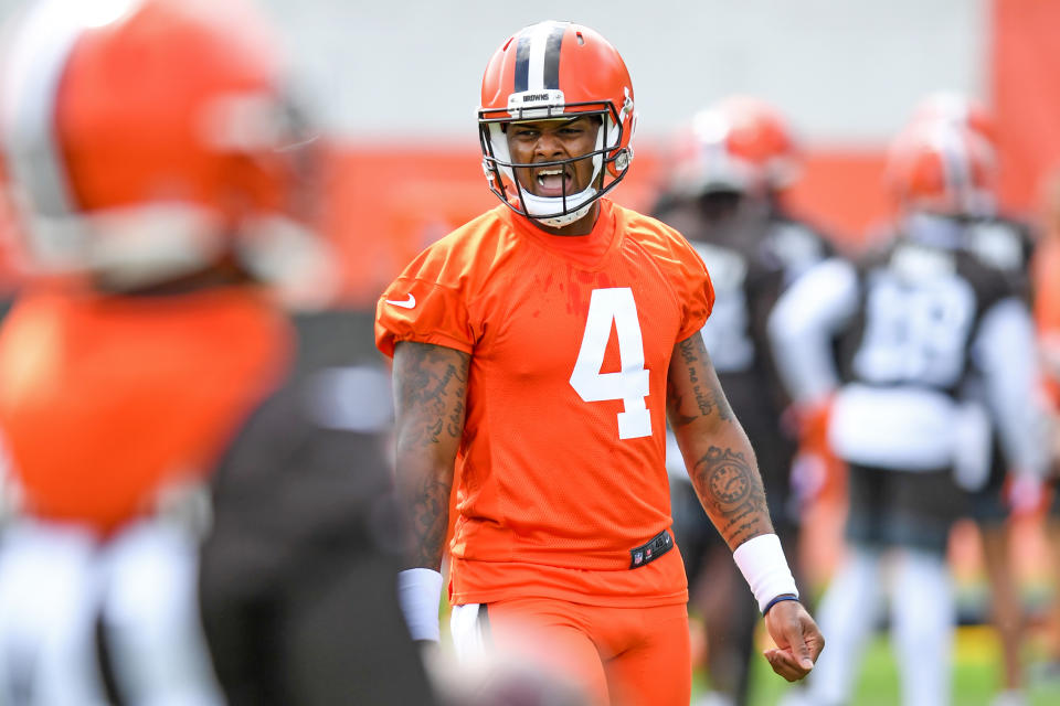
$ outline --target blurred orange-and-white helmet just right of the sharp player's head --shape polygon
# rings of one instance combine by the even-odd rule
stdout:
[[[789,185],[799,159],[787,121],[752,96],[729,96],[697,113],[679,135],[674,190],[765,192]]]

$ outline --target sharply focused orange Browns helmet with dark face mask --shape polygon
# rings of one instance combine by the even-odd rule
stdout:
[[[526,192],[512,172],[520,164],[512,163],[508,151],[508,124],[583,115],[601,117],[595,149],[556,164],[593,160],[590,186],[556,197]],[[571,22],[523,28],[494,53],[483,76],[478,126],[489,189],[516,213],[551,226],[572,223],[626,175],[636,121],[629,72],[607,40]]]

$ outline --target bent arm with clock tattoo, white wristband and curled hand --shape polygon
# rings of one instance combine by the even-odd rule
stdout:
[[[768,560],[764,565],[759,559],[759,566],[749,571],[741,564],[741,571],[752,584],[752,590],[756,593],[767,591],[768,580],[762,581],[765,588],[761,590],[754,587],[757,582],[755,575],[776,576],[776,568],[782,568],[791,580],[776,536],[763,536],[773,534],[773,523],[754,451],[729,407],[703,338],[698,333],[674,346],[667,374],[666,408],[696,493],[729,548],[733,552],[751,549],[750,554],[754,555],[759,553],[757,548],[752,549],[755,545],[768,546],[771,539],[775,542],[776,554],[766,555]],[[755,542],[748,544],[750,539]],[[740,564],[740,553],[736,557]],[[791,586],[794,585],[791,580]],[[768,600],[778,596],[786,593],[770,591],[764,598],[755,596],[760,606],[768,601],[764,610],[765,627],[776,643],[776,648],[763,654],[774,672],[795,682],[809,674],[825,646],[825,639],[798,601]]]

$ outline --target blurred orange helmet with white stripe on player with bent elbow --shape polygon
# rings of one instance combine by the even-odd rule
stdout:
[[[995,176],[994,150],[983,136],[947,122],[910,126],[887,156],[888,186],[907,211],[988,214]]]

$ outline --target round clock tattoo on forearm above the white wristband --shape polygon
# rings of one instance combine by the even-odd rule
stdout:
[[[696,492],[729,546],[770,532],[765,490],[753,462],[743,453],[712,446],[691,472]]]

